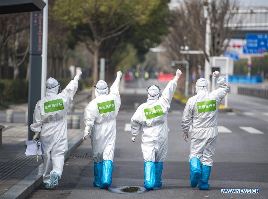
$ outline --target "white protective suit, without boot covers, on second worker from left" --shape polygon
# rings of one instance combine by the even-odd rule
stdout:
[[[84,124],[92,127],[90,138],[94,162],[114,159],[116,137],[115,118],[121,105],[119,95],[120,76],[110,87],[100,80],[96,85],[96,98],[89,102],[84,112]]]

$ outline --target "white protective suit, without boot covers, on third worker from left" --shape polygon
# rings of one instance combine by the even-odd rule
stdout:
[[[131,133],[137,136],[143,125],[142,153],[144,161],[163,162],[168,151],[168,110],[177,81],[169,81],[162,95],[153,85],[148,89],[148,99],[141,104],[131,118]]]

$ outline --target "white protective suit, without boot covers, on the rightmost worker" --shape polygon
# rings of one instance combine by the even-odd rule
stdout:
[[[189,98],[182,116],[182,131],[191,133],[190,159],[196,157],[206,166],[212,166],[218,135],[217,112],[229,87],[224,78],[218,78],[219,88],[208,92],[207,80],[200,78],[196,82],[197,94]]]

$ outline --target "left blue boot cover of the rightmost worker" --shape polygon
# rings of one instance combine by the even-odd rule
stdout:
[[[201,175],[200,160],[198,158],[190,159],[190,170],[191,187],[196,187]]]

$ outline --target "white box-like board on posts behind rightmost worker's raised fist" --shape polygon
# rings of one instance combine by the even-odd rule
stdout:
[[[222,75],[233,75],[233,58],[230,57],[210,57],[210,66],[219,67]],[[227,69],[228,67],[228,69]]]

